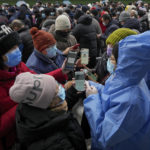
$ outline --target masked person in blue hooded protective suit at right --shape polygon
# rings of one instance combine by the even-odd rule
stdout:
[[[150,70],[150,31],[120,41],[117,54],[117,60],[116,55],[108,60],[112,75],[105,86],[86,83],[92,150],[150,150],[150,93],[144,80]]]

